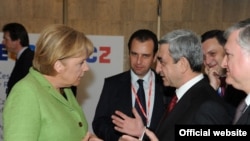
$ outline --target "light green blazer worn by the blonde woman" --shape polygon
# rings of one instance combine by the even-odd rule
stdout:
[[[81,141],[88,131],[85,115],[71,89],[64,92],[67,99],[30,68],[5,102],[4,141]]]

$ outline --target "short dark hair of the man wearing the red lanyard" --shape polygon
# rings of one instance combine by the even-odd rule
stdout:
[[[154,55],[156,54],[157,50],[158,50],[158,39],[157,39],[157,36],[154,32],[148,30],[148,29],[139,29],[137,31],[135,31],[129,38],[129,41],[128,41],[128,50],[130,52],[130,49],[131,49],[131,44],[132,44],[132,41],[134,39],[137,39],[141,42],[144,42],[144,41],[147,41],[147,40],[153,40],[154,42]]]

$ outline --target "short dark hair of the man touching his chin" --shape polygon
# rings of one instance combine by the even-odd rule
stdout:
[[[211,38],[216,38],[217,41],[224,46],[226,44],[226,39],[224,38],[224,31],[223,30],[219,30],[219,29],[213,29],[213,30],[209,30],[206,31],[205,33],[203,33],[201,35],[201,42],[205,42],[208,39]]]

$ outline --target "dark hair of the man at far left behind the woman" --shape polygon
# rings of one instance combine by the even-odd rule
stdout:
[[[29,36],[25,27],[20,23],[8,23],[4,25],[3,32],[9,32],[13,41],[20,39],[23,47],[29,46]]]

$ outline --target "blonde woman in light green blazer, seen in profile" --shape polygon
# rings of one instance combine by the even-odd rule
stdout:
[[[42,31],[33,66],[4,105],[5,141],[100,140],[88,132],[70,88],[89,70],[86,59],[92,52],[92,42],[71,27],[56,24]]]

